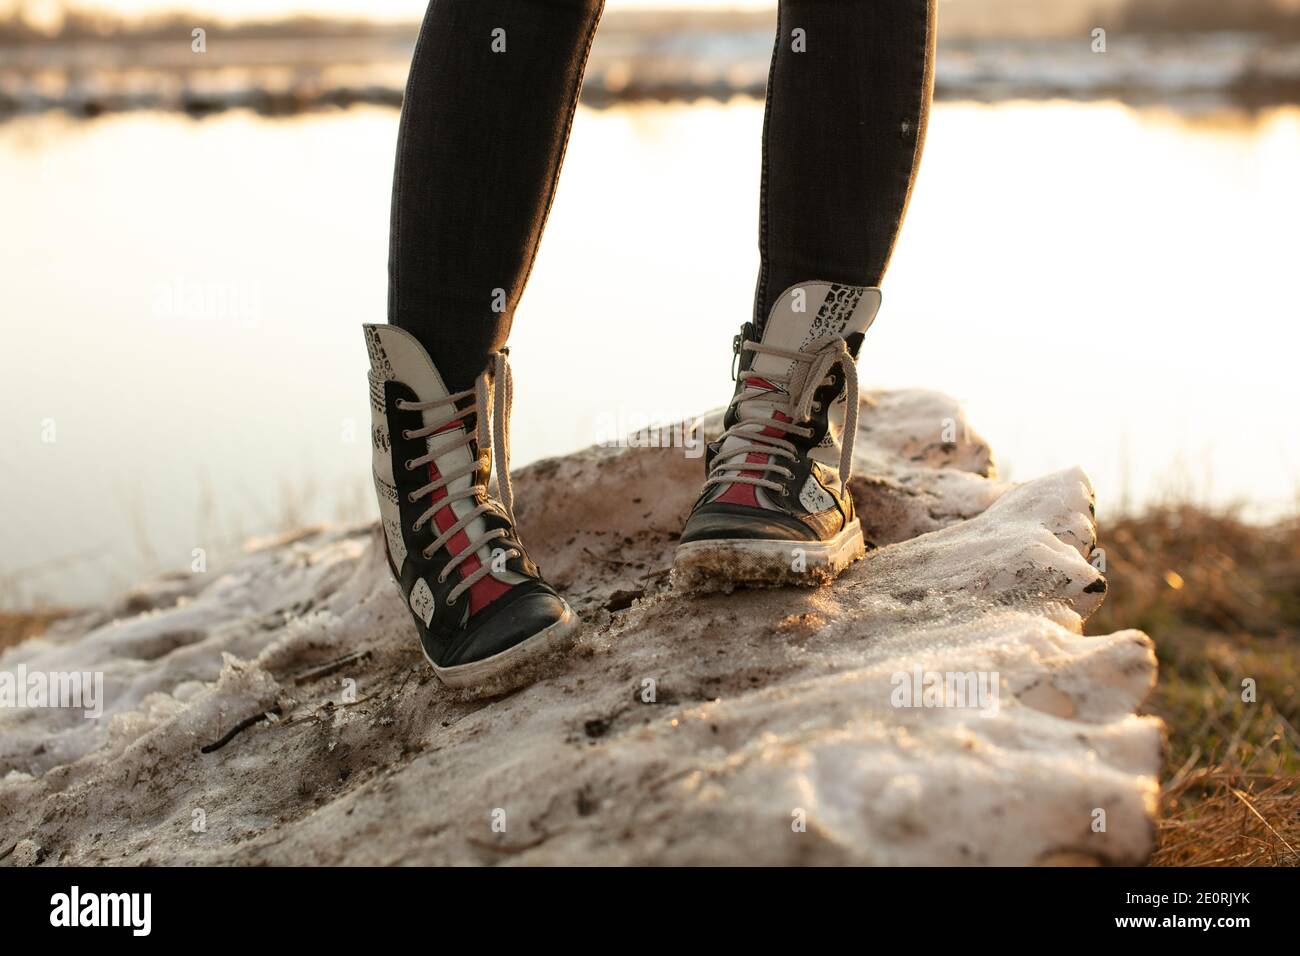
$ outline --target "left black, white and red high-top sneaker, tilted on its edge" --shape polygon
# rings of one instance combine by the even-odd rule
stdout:
[[[529,676],[521,665],[568,643],[577,617],[515,531],[506,352],[472,389],[448,393],[408,332],[367,325],[365,345],[389,567],[425,657],[451,687],[507,689]]]

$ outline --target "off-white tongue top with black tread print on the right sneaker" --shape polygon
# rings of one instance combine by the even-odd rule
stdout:
[[[826,336],[848,338],[866,332],[880,310],[880,290],[859,285],[803,282],[788,289],[763,324],[763,345],[798,351]],[[789,359],[759,352],[750,371],[759,376],[789,376]]]

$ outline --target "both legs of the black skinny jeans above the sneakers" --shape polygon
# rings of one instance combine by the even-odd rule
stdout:
[[[602,7],[429,3],[398,134],[389,321],[452,390],[510,334]],[[926,138],[933,51],[935,0],[781,0],[757,323],[797,282],[879,285]]]

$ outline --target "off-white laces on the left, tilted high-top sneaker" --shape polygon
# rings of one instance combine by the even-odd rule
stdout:
[[[489,380],[491,382],[490,388]],[[473,397],[474,401],[469,406],[464,408],[456,407],[456,402],[471,397]],[[459,437],[451,437],[450,441],[430,447],[426,454],[422,454],[419,458],[410,458],[406,462],[407,471],[415,471],[416,468],[429,464],[429,462],[436,458],[445,455],[447,451],[460,446],[468,447],[472,440],[477,440],[478,444],[478,458],[476,460],[446,475],[439,475],[434,481],[430,481],[422,488],[417,488],[407,496],[407,501],[415,503],[420,498],[433,494],[439,488],[447,488],[452,481],[456,481],[465,475],[472,475],[480,468],[484,471],[482,483],[471,484],[468,488],[463,488],[459,492],[448,489],[447,494],[430,503],[429,509],[415,519],[412,529],[420,531],[425,522],[430,520],[442,509],[450,507],[452,502],[465,498],[482,499],[478,501],[473,509],[462,515],[446,531],[438,535],[422,550],[425,558],[432,558],[436,550],[445,546],[452,537],[464,531],[476,518],[489,511],[498,511],[499,509],[499,514],[510,520],[511,527],[514,527],[515,489],[510,484],[510,408],[514,403],[514,398],[515,382],[511,376],[510,363],[506,360],[506,351],[502,350],[493,354],[489,368],[478,376],[474,381],[474,388],[472,389],[456,392],[446,398],[434,399],[432,402],[407,402],[398,399],[396,407],[402,411],[424,412],[441,406],[450,406],[446,419],[436,421],[432,425],[425,425],[424,428],[403,429],[403,438],[428,438],[442,432],[442,429],[452,421],[464,420],[469,415],[476,416],[476,434],[471,436],[468,431],[459,428],[451,429],[446,432],[446,434],[455,436],[455,433],[459,432]],[[433,444],[430,442],[430,445]],[[493,464],[497,466],[495,470],[493,468]],[[500,498],[499,506],[491,499],[488,489],[488,483],[490,481],[490,476],[494,471],[497,476],[497,492]],[[452,510],[452,514],[455,514],[455,510]],[[480,548],[495,541],[497,538],[506,537],[507,535],[510,535],[510,532],[504,528],[493,528],[472,540],[464,550],[459,554],[451,555],[451,561],[448,561],[446,567],[443,567],[438,574],[438,583],[442,584],[446,581],[447,576],[455,571],[462,562],[476,554]],[[519,557],[520,551],[511,548],[504,554],[506,558],[511,558]],[[480,567],[465,575],[464,579],[447,593],[447,604],[456,604],[456,598],[460,597],[460,594],[490,574],[491,562],[482,562]]]

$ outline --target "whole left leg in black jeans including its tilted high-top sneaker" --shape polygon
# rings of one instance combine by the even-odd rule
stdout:
[[[433,0],[402,109],[389,323],[365,326],[374,489],[420,645],[476,692],[530,679],[577,627],[515,527],[502,346],[599,16],[601,0]]]

